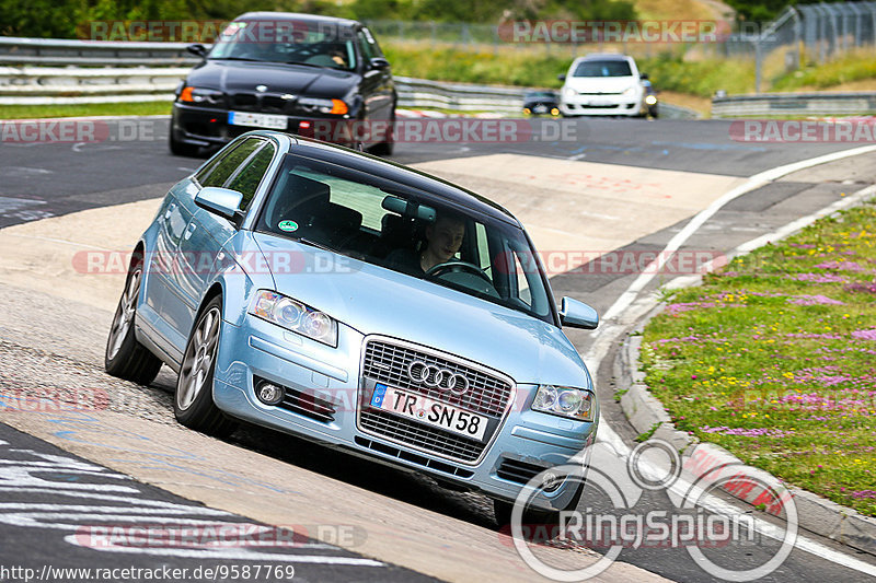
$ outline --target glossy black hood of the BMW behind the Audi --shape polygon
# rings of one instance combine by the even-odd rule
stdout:
[[[207,60],[195,67],[186,83],[226,93],[252,93],[266,85],[266,93],[309,97],[343,97],[359,81],[354,72],[279,62]]]

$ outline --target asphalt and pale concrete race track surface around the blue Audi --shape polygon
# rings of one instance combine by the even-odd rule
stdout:
[[[65,254],[126,249],[151,220],[153,199],[203,161],[169,153],[166,118],[105,124],[100,141],[0,144],[0,389],[5,398],[34,389],[79,392],[104,399],[105,409],[0,408],[0,580],[24,580],[23,571],[4,573],[3,567],[33,569],[36,576],[51,565],[166,567],[188,569],[186,576],[198,581],[233,581],[243,578],[233,576],[231,565],[263,564],[293,567],[297,581],[546,581],[508,559],[514,549],[496,530],[492,504],[476,493],[257,428],[238,430],[224,442],[183,431],[173,420],[174,377],[166,369],[150,387],[103,373],[120,283],[74,273]],[[550,139],[557,121],[527,120],[519,127],[530,132],[516,141],[399,143],[392,160],[506,206],[540,250],[564,257],[549,264],[555,294],[586,301],[600,314],[637,273],[587,269],[592,253],[659,252],[691,217],[748,177],[855,147],[736,141],[728,121],[560,124],[567,140]],[[728,254],[874,183],[876,153],[789,172],[724,206],[681,249]],[[576,249],[591,253],[574,255]],[[642,293],[667,282],[655,278]],[[620,335],[634,320],[613,318],[597,335],[569,333],[579,352],[593,359],[587,363],[603,423],[631,446],[636,432],[613,399],[618,342],[600,341],[600,334]],[[611,464],[610,452],[597,462]],[[664,491],[639,493],[636,513],[678,511]],[[606,512],[611,505],[590,486],[581,503]],[[739,505],[738,512],[754,511]],[[116,524],[159,524],[165,537],[186,526],[235,534],[250,528],[269,540],[243,548],[217,548],[209,540],[182,550],[166,544],[118,548],[105,544],[99,529]],[[809,533],[800,538],[762,581],[876,580],[872,556]],[[759,535],[705,555],[745,570],[769,561],[777,547]],[[570,552],[585,562],[598,558],[577,551],[548,556],[563,564]],[[598,580],[719,581],[701,563],[681,547],[631,547]],[[193,575],[197,568],[201,572]],[[204,569],[223,571],[209,578]],[[270,573],[281,581],[291,571]],[[76,580],[55,578],[48,580]]]

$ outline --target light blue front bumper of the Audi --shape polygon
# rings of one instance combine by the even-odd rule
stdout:
[[[362,349],[372,337],[339,326],[331,348],[247,316],[242,326],[223,323],[214,400],[227,415],[258,425],[339,447],[439,481],[512,501],[529,478],[543,469],[581,460],[596,438],[597,422],[579,422],[530,410],[537,386],[517,385],[514,401],[481,456],[464,463],[364,431],[368,378],[361,376]],[[291,404],[268,406],[255,396],[260,380],[287,387]],[[373,384],[373,383],[371,383]],[[428,427],[428,425],[427,425]],[[577,487],[577,482],[570,487]],[[567,488],[539,493],[535,505],[550,509]]]

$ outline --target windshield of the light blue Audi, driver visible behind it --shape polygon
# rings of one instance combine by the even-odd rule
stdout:
[[[256,230],[555,323],[521,229],[385,178],[289,154]]]

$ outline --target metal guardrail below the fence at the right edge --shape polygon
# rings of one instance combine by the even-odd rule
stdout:
[[[760,93],[712,100],[712,117],[835,116],[876,113],[876,92]]]

